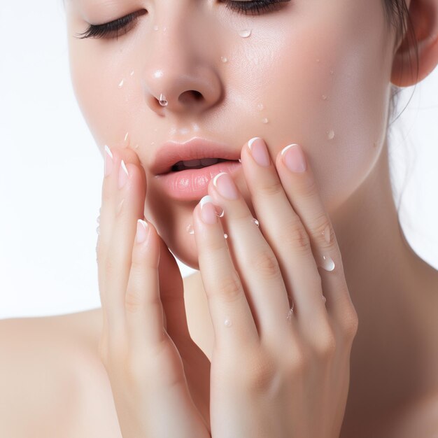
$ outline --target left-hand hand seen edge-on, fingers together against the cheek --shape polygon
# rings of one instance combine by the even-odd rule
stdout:
[[[105,153],[111,173],[102,187],[97,243],[104,315],[99,356],[122,436],[210,437],[210,362],[188,332],[178,264],[150,222],[146,229],[137,225],[146,197],[138,157],[127,149],[112,152],[113,160]],[[120,189],[119,176],[125,180]],[[134,240],[137,227],[148,233],[143,243]]]

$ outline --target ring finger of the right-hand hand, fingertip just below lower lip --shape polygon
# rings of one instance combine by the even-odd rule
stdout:
[[[274,251],[234,184],[232,177],[221,172],[209,185],[213,202],[225,212],[222,219],[229,235],[227,240],[234,266],[246,290],[246,298],[261,338],[278,339],[278,333],[289,332],[288,293]]]

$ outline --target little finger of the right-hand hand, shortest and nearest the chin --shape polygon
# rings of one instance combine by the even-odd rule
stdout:
[[[215,344],[240,351],[243,346],[258,343],[259,336],[211,201],[211,197],[203,197],[193,211],[199,270],[209,303]]]

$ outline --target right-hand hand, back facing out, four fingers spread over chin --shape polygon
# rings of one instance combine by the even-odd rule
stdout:
[[[227,174],[209,183],[204,202],[213,204],[199,203],[193,212],[215,336],[211,436],[339,437],[358,316],[337,239],[310,167],[292,173],[280,153],[274,167],[263,141],[252,148],[267,164],[257,164],[243,146],[260,226]],[[323,264],[328,271],[318,271]]]

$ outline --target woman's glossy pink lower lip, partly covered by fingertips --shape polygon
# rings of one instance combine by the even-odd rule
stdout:
[[[202,169],[185,169],[155,176],[155,181],[172,199],[197,201],[209,194],[209,182],[220,172],[234,174],[241,169],[237,161],[223,161]]]

